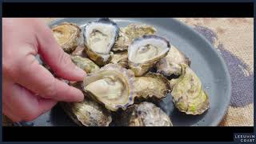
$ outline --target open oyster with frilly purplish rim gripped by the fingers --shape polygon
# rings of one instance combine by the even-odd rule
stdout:
[[[117,64],[107,64],[88,74],[83,83],[83,90],[109,110],[126,110],[134,103],[134,73]]]

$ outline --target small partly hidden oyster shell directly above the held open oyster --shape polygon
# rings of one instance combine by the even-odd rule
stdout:
[[[128,53],[126,50],[114,53],[110,63],[118,64],[124,68],[128,67]]]

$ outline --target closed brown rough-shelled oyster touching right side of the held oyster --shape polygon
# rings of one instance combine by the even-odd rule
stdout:
[[[142,77],[136,77],[134,82],[134,94],[136,98],[165,98],[170,92],[170,83],[162,74],[147,73]]]

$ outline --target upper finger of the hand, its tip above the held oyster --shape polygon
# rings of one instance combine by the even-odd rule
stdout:
[[[66,54],[55,41],[49,27],[39,22],[38,26],[38,53],[54,72],[62,78],[71,81],[82,81],[86,77],[84,70],[78,68],[71,61],[69,54]]]

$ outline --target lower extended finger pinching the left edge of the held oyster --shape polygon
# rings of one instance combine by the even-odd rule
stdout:
[[[28,55],[20,62],[20,65],[16,66],[16,70],[13,71],[14,82],[18,82],[35,94],[39,94],[43,98],[65,102],[81,102],[83,100],[84,95],[81,90],[54,78],[33,55]]]

